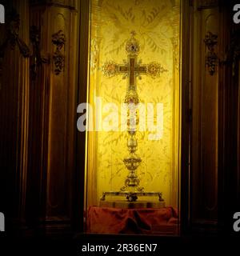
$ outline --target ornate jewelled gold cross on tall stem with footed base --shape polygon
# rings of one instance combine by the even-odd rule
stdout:
[[[138,61],[140,52],[140,44],[135,38],[135,32],[131,32],[130,39],[126,42],[127,60],[123,64],[117,64],[114,61],[107,61],[103,64],[101,70],[106,77],[112,78],[115,75],[123,74],[123,78],[128,78],[128,86],[124,102],[127,106],[127,147],[129,155],[123,159],[126,169],[129,174],[126,177],[125,185],[117,192],[104,192],[102,200],[105,200],[106,195],[124,195],[129,202],[134,202],[138,196],[158,196],[159,201],[163,201],[162,193],[160,192],[144,192],[144,188],[140,186],[137,170],[142,159],[138,156],[138,141],[136,138],[139,115],[138,115],[138,90],[136,78],[141,78],[141,74],[149,75],[151,78],[156,78],[167,70],[158,62],[150,62],[148,65],[143,65],[142,61]]]

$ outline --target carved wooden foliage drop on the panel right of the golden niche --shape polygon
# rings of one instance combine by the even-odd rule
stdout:
[[[207,32],[204,39],[207,49],[205,65],[207,66],[210,75],[215,73],[216,67],[218,66],[218,55],[214,52],[214,46],[218,43],[217,39],[218,35],[212,34],[211,32]]]

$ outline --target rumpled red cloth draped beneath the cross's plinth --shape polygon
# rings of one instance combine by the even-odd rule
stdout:
[[[90,206],[87,232],[95,234],[177,234],[178,212],[161,209],[118,209]]]

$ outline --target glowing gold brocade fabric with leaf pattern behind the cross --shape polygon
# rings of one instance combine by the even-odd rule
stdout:
[[[93,0],[90,4],[90,77],[89,102],[94,117],[106,114],[102,107],[124,102],[127,79],[122,74],[106,78],[101,66],[126,59],[125,44],[130,32],[140,42],[138,59],[142,64],[160,62],[168,70],[159,78],[142,75],[137,78],[140,102],[163,104],[163,134],[156,141],[148,139],[149,131],[138,132],[137,154],[142,158],[138,167],[140,186],[146,191],[160,191],[166,206],[178,206],[179,179],[179,41],[180,0]],[[96,106],[102,98],[102,107]],[[156,109],[156,105],[154,105]],[[98,112],[98,113],[97,113]],[[155,111],[156,113],[156,111]],[[94,119],[94,126],[96,125]],[[120,190],[128,170],[123,158],[128,155],[127,133],[124,131],[93,131],[87,138],[86,200],[87,206],[98,205],[103,191]]]

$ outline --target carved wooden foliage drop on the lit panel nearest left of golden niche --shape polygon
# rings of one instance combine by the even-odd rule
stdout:
[[[60,74],[64,69],[64,55],[62,54],[62,48],[65,45],[66,38],[65,34],[63,34],[62,30],[59,30],[57,33],[52,35],[52,42],[54,46],[56,46],[56,50],[54,52],[54,73]]]

